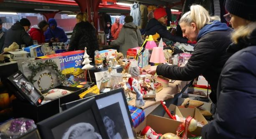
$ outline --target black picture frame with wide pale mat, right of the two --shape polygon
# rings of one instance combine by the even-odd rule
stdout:
[[[121,136],[122,139],[137,139],[123,89],[99,94],[95,96],[95,99],[109,139],[113,136],[115,138]]]

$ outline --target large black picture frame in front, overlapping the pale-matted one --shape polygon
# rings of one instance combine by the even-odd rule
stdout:
[[[39,122],[37,126],[42,139],[68,139],[66,137],[72,134],[72,130],[81,128],[82,131],[80,130],[80,133],[83,133],[83,137],[90,133],[94,134],[94,136],[100,134],[102,139],[109,139],[99,114],[95,98],[92,97],[64,112]],[[88,123],[94,127],[94,132],[85,132],[86,129],[91,128],[91,126],[88,127]],[[82,124],[83,127],[81,127]]]

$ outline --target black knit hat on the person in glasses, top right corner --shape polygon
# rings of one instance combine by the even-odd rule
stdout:
[[[226,0],[225,7],[232,15],[256,21],[256,0]]]

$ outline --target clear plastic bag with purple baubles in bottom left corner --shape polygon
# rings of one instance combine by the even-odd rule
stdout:
[[[17,118],[0,125],[0,139],[15,139],[36,129],[32,119]]]

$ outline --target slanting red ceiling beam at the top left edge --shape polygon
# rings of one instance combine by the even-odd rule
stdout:
[[[77,6],[77,3],[74,0],[17,0],[17,1],[40,2],[40,3],[51,3],[51,4],[74,5],[74,6]]]

